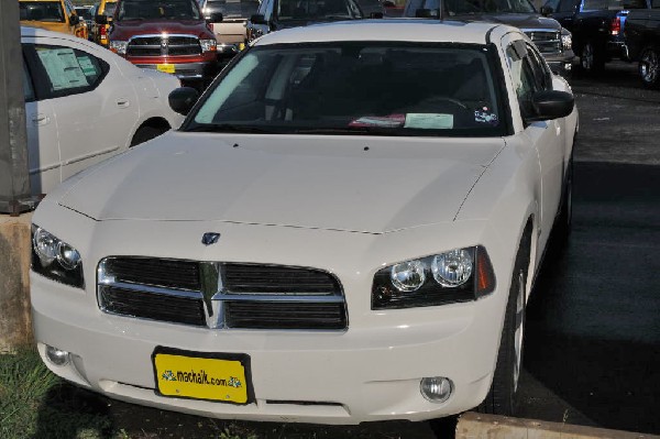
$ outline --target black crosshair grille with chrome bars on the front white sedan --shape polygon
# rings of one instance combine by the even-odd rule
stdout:
[[[106,257],[97,271],[97,298],[108,314],[198,327],[348,327],[339,281],[304,267]]]

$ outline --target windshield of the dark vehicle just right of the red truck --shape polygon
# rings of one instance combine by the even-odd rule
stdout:
[[[352,0],[279,0],[277,18],[287,21],[323,21],[361,19],[362,13]]]

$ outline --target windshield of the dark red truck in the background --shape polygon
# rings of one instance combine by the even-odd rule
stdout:
[[[117,19],[122,20],[199,20],[195,0],[124,0]]]

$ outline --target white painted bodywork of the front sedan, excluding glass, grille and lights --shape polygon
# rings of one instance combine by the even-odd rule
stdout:
[[[255,45],[298,41],[461,42],[499,47],[519,31],[483,23],[399,21],[279,31]],[[113,398],[223,419],[358,424],[422,420],[477,406],[495,372],[514,261],[531,224],[529,294],[572,152],[578,111],[526,124],[505,74],[510,133],[502,138],[387,138],[169,132],[89,168],[51,193],[33,222],[82,255],[84,288],[31,272],[37,345],[46,365]],[[553,88],[570,91],[558,77]],[[559,134],[559,135],[558,135]],[[369,147],[367,147],[369,146]],[[204,245],[207,232],[218,244]],[[483,245],[494,292],[441,306],[372,309],[381,268]],[[336,276],[345,330],[209,329],[99,309],[107,256],[277,264]],[[56,365],[46,345],[70,352]],[[154,392],[156,347],[250,355],[248,405]],[[441,404],[420,380],[447,376]]]

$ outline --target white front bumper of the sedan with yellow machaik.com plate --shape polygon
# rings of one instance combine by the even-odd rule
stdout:
[[[488,392],[510,267],[495,263],[509,256],[486,237],[480,241],[493,249],[491,259],[498,279],[492,295],[471,303],[374,311],[371,285],[375,271],[383,261],[407,257],[402,249],[418,231],[370,235],[213,222],[94,223],[73,213],[65,217],[67,222],[57,223],[77,230],[70,243],[87,255],[87,286],[76,289],[31,273],[33,322],[46,365],[82,387],[207,417],[343,425],[449,416],[477,406]],[[458,242],[473,226],[454,227],[443,246],[460,246]],[[204,231],[220,227],[222,245],[199,244]],[[59,237],[74,237],[67,230],[50,229]],[[120,235],[122,240],[117,239]],[[168,243],[161,248],[154,245],[157,242]],[[242,245],[237,246],[238,242]],[[125,243],[131,243],[130,250]],[[344,252],[338,253],[342,248]],[[430,253],[430,249],[415,252]],[[97,304],[96,262],[127,252],[326,268],[341,279],[350,325],[342,331],[223,330],[105,314]],[[254,261],[255,254],[262,261]],[[370,261],[373,254],[378,263]],[[360,266],[373,270],[356,270]],[[70,352],[72,362],[63,366],[50,363],[44,354],[46,344]],[[250,355],[255,402],[231,405],[156,395],[152,365],[156,347]],[[453,393],[447,402],[431,403],[421,395],[420,380],[431,376],[452,381]]]

